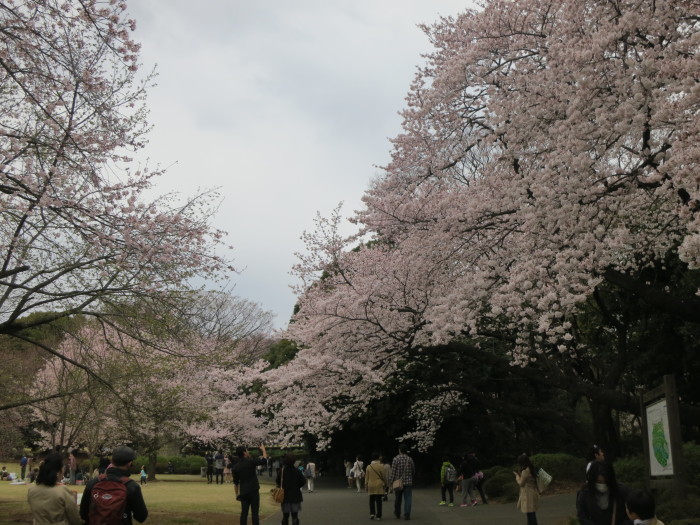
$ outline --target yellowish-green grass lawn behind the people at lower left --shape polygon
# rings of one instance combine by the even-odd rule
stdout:
[[[132,476],[137,479],[137,476]],[[269,478],[260,479],[260,517],[279,511],[279,505],[269,496]],[[27,504],[28,485],[0,482],[0,523],[32,523]],[[71,487],[78,492],[83,487]],[[141,487],[148,507],[150,525],[231,525],[238,521],[240,503],[236,501],[233,485],[208,485],[199,476],[158,476],[158,481]]]

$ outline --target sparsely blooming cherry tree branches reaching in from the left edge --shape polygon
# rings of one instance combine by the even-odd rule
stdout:
[[[132,161],[153,75],[126,3],[5,2],[0,28],[0,333],[40,345],[28,328],[76,314],[125,330],[124,304],[165,316],[232,270],[216,192],[154,197],[161,172]]]

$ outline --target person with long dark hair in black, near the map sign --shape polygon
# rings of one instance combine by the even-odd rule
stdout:
[[[581,525],[631,525],[626,499],[627,490],[617,484],[612,466],[594,461],[586,485],[576,495],[576,517]]]

